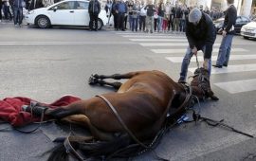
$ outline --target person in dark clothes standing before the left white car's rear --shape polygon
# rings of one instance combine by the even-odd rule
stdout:
[[[101,12],[101,4],[98,0],[91,0],[89,2],[89,6],[88,6],[88,12],[90,15],[90,23],[89,23],[89,27],[90,30],[98,30],[98,16],[99,13]],[[95,28],[93,28],[95,27]]]

